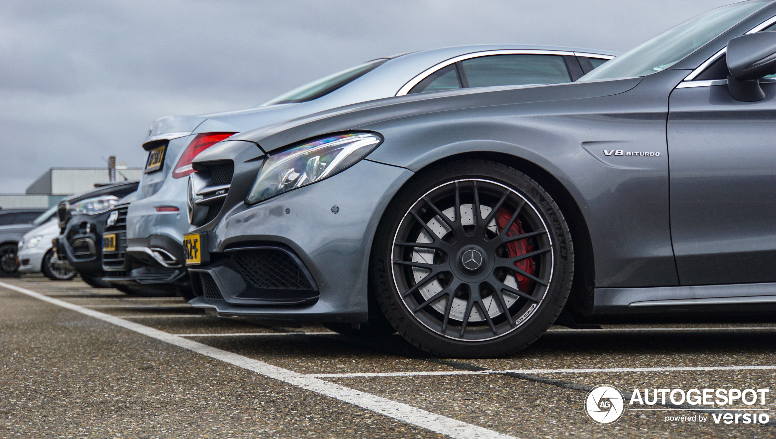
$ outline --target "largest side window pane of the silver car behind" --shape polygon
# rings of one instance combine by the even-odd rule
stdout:
[[[491,55],[461,61],[469,87],[570,82],[560,55]]]

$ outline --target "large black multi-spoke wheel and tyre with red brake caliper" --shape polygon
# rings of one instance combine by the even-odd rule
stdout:
[[[573,275],[555,202],[520,172],[484,161],[418,180],[386,209],[373,249],[372,285],[380,285],[388,320],[421,349],[446,356],[497,356],[530,344],[563,309]]]

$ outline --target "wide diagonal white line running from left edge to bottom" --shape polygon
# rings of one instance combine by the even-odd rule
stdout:
[[[269,378],[277,379],[282,382],[288,382],[289,384],[299,386],[302,389],[317,392],[325,396],[331,396],[334,399],[339,399],[341,401],[345,401],[346,403],[354,404],[355,406],[362,407],[366,410],[372,410],[373,412],[380,413],[397,420],[412,423],[418,427],[423,427],[439,434],[446,434],[450,437],[456,437],[460,439],[514,439],[511,436],[498,433],[494,430],[488,430],[487,428],[465,423],[460,420],[455,420],[436,413],[427,412],[426,410],[421,410],[417,407],[409,406],[404,403],[397,403],[396,401],[392,401],[380,396],[375,396],[366,392],[360,392],[359,390],[348,389],[347,387],[334,384],[333,382],[327,382],[322,379],[314,378],[310,375],[303,375],[297,372],[292,372],[284,368],[269,365],[263,361],[254,360],[229,351],[223,351],[221,349],[217,349],[216,347],[210,347],[206,344],[197,343],[196,341],[188,340],[184,337],[178,337],[175,334],[169,334],[152,327],[141,325],[140,323],[130,322],[129,320],[123,320],[117,316],[100,313],[94,309],[88,309],[70,302],[64,302],[64,300],[54,299],[29,289],[23,289],[15,285],[6,284],[4,282],[0,282],[0,286],[21,292],[36,299],[43,300],[44,302],[49,302],[63,308],[71,309],[72,311],[85,314],[87,316],[95,317],[96,319],[103,320],[108,323],[113,323],[116,326],[123,327],[128,330],[133,330],[137,333],[144,334],[157,340],[165,341],[169,344],[174,344],[178,347],[184,347],[185,349],[206,355],[210,358],[216,358],[217,360],[227,362],[231,365],[246,368],[261,375],[265,375]]]

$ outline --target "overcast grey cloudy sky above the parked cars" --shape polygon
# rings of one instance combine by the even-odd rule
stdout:
[[[247,108],[364,60],[477,43],[624,51],[731,0],[0,2],[0,193],[141,166],[154,119]]]

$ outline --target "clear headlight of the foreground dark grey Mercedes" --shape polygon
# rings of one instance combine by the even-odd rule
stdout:
[[[245,199],[254,204],[344,171],[383,141],[374,133],[326,137],[267,157]]]

